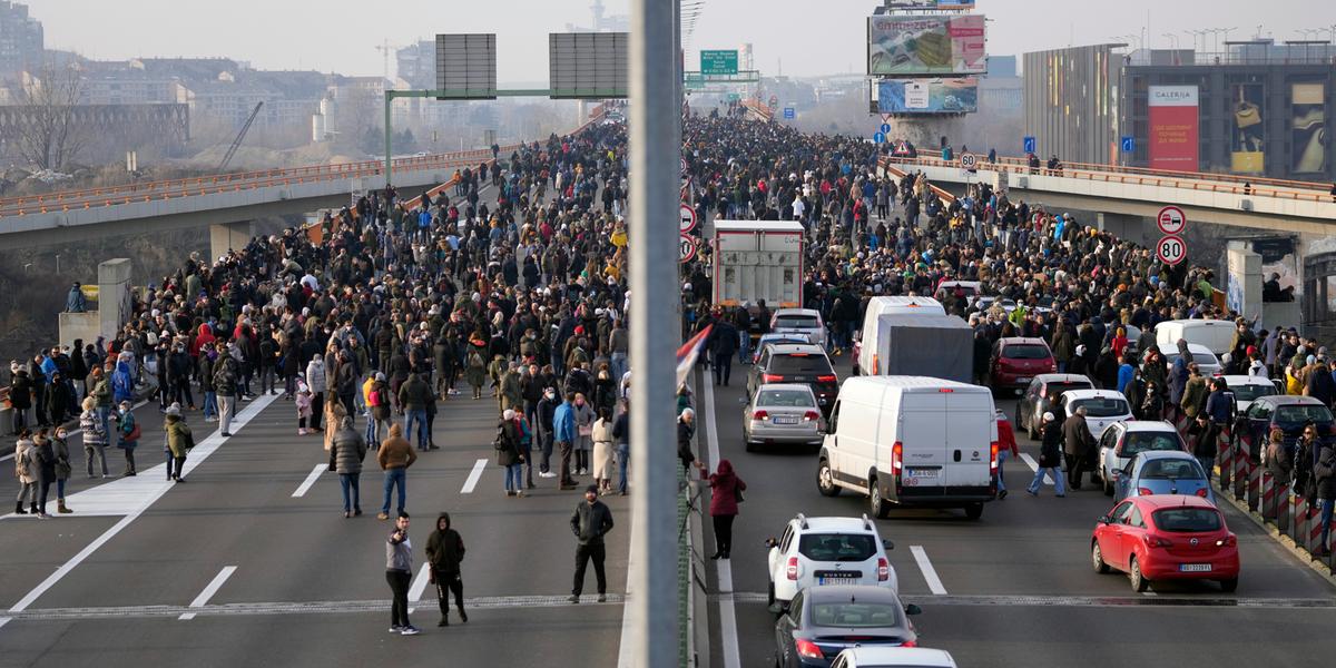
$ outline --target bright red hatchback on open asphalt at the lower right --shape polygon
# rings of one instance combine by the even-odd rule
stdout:
[[[1156,580],[1218,580],[1238,587],[1238,538],[1210,501],[1180,494],[1129,498],[1100,518],[1090,538],[1097,573],[1118,569],[1145,592]]]

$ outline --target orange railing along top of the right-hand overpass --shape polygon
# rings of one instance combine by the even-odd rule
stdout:
[[[961,168],[959,160],[942,160],[941,158],[903,158],[888,156],[887,163],[922,167]],[[1093,167],[1093,168],[1092,168]],[[1105,183],[1125,183],[1130,186],[1158,186],[1170,188],[1184,188],[1205,192],[1222,192],[1245,196],[1268,196],[1277,199],[1292,199],[1300,202],[1325,202],[1332,198],[1324,192],[1320,184],[1307,182],[1283,180],[1236,180],[1237,176],[1204,174],[1204,172],[1165,172],[1157,170],[1125,171],[1136,168],[1109,167],[1109,166],[1079,166],[1065,163],[1061,170],[1047,167],[1030,167],[1021,159],[1006,158],[995,163],[981,163],[978,168],[985,171],[998,171],[1018,175],[1061,176],[1070,179],[1083,179]]]

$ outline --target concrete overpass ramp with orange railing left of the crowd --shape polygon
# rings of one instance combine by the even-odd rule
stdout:
[[[568,134],[600,119],[601,106]],[[399,158],[391,166],[394,187],[406,196],[484,162],[492,162],[490,150]],[[253,220],[347,206],[353,194],[382,187],[383,174],[383,160],[365,160],[4,198],[0,239],[15,248],[208,226],[211,254],[219,257],[250,240]]]

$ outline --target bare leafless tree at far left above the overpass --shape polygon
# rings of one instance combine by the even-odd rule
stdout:
[[[19,87],[24,119],[19,123],[19,151],[39,170],[61,170],[79,155],[88,139],[75,106],[83,100],[83,76],[71,65],[43,65],[25,73]]]

